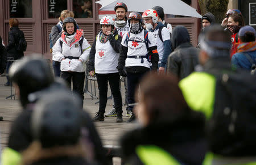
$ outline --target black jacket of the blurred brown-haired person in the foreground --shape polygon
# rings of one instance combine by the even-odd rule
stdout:
[[[204,137],[203,114],[192,112],[194,117],[148,125],[126,133],[121,139],[122,160],[127,164],[143,164],[136,154],[139,145],[155,145],[170,153],[184,164],[201,164],[207,152]]]

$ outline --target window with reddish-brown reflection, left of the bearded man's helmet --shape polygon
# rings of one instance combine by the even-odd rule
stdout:
[[[73,0],[75,18],[92,18],[92,0]]]

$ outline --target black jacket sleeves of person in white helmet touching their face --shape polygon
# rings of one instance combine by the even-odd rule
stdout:
[[[98,35],[99,34],[100,33],[98,33]],[[109,39],[110,45],[115,50],[115,52],[119,53],[119,48],[121,45],[122,37],[120,35],[118,35],[118,39],[115,40],[116,35],[118,35],[117,29],[115,29],[114,35],[108,36],[108,39]],[[89,61],[88,61],[89,72],[95,70],[95,68],[94,68],[94,58],[95,58],[95,53],[96,53],[95,46],[96,46],[96,39],[94,40],[93,45],[90,48],[90,55],[89,55]]]

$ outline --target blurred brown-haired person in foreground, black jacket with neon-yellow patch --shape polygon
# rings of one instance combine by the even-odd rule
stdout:
[[[124,164],[201,164],[204,115],[188,107],[177,78],[150,73],[140,87],[135,109],[141,128],[121,139]]]

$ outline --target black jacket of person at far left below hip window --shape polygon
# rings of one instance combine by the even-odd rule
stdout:
[[[19,43],[20,37],[24,38],[23,31],[20,31],[18,27],[11,27],[8,37],[8,45],[6,50],[8,52],[7,57],[14,57],[14,60],[22,58],[24,56],[23,51],[19,51],[16,49],[16,45]]]

